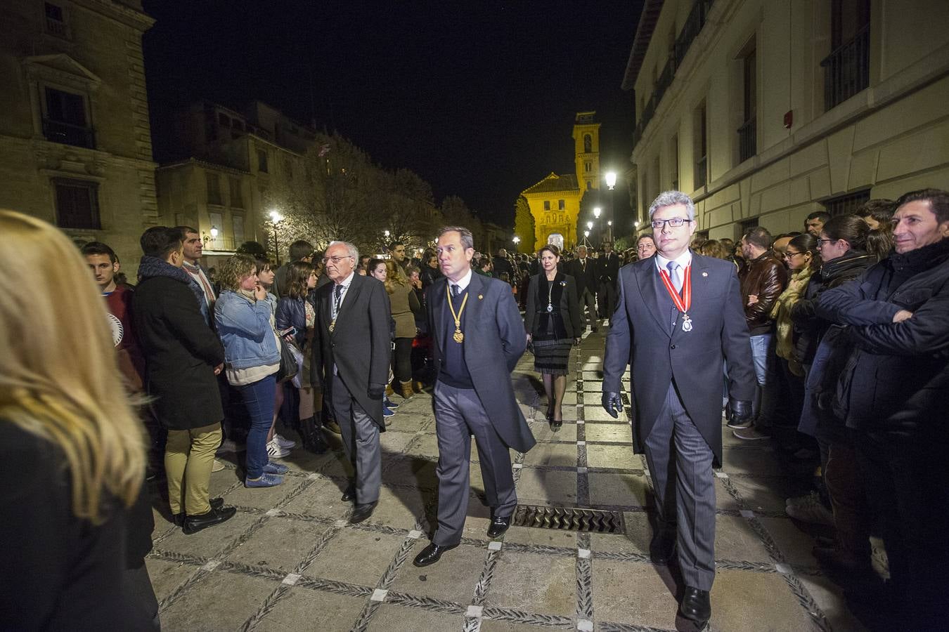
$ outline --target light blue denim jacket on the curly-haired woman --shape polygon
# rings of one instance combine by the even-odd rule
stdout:
[[[233,369],[250,369],[280,362],[270,301],[251,304],[230,290],[221,292],[214,304],[217,334],[224,344],[225,363]]]

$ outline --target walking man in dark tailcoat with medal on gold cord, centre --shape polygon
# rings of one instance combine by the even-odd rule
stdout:
[[[489,537],[508,530],[517,505],[508,450],[527,452],[534,444],[511,383],[511,371],[527,347],[511,287],[473,274],[474,239],[467,228],[443,228],[437,253],[445,277],[425,292],[425,304],[438,370],[433,401],[438,528],[432,543],[416,556],[417,567],[435,564],[461,541],[472,435],[492,508]]]

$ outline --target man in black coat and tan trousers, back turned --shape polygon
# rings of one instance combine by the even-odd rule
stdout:
[[[181,269],[180,231],[154,226],[140,244],[144,256],[132,305],[145,355],[145,388],[168,429],[168,504],[184,533],[196,533],[236,512],[208,497],[224,418],[215,377],[224,368],[224,347],[201,316],[203,293]]]

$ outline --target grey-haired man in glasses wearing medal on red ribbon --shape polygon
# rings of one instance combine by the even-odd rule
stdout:
[[[689,250],[695,213],[680,191],[661,193],[649,208],[658,252],[619,271],[603,406],[613,417],[622,410],[621,379],[632,365],[635,450],[645,452],[658,504],[650,553],[665,563],[679,548],[686,585],[679,613],[705,622],[715,580],[712,467],[722,454],[722,362],[739,419],[751,415],[754,367],[735,266]]]

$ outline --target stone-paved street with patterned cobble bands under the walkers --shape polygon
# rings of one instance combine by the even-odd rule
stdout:
[[[563,428],[543,421],[543,388],[526,354],[514,372],[538,444],[513,454],[522,504],[611,510],[624,533],[514,527],[485,534],[489,512],[477,455],[465,537],[426,569],[437,507],[437,442],[431,398],[402,404],[381,435],[382,491],[375,513],[349,525],[340,500],[342,450],[317,457],[297,448],[285,483],[245,489],[233,462],[212,477],[212,496],[238,512],[185,535],[156,501],[155,550],[147,560],[165,630],[688,630],[677,620],[673,569],[648,558],[650,479],[632,453],[629,420],[600,407],[603,334],[572,356]],[[289,434],[289,433],[288,433]],[[718,572],[713,630],[859,630],[784,514],[794,487],[770,447],[725,433],[716,472]],[[337,447],[339,447],[337,443]],[[473,445],[474,448],[474,445]]]

